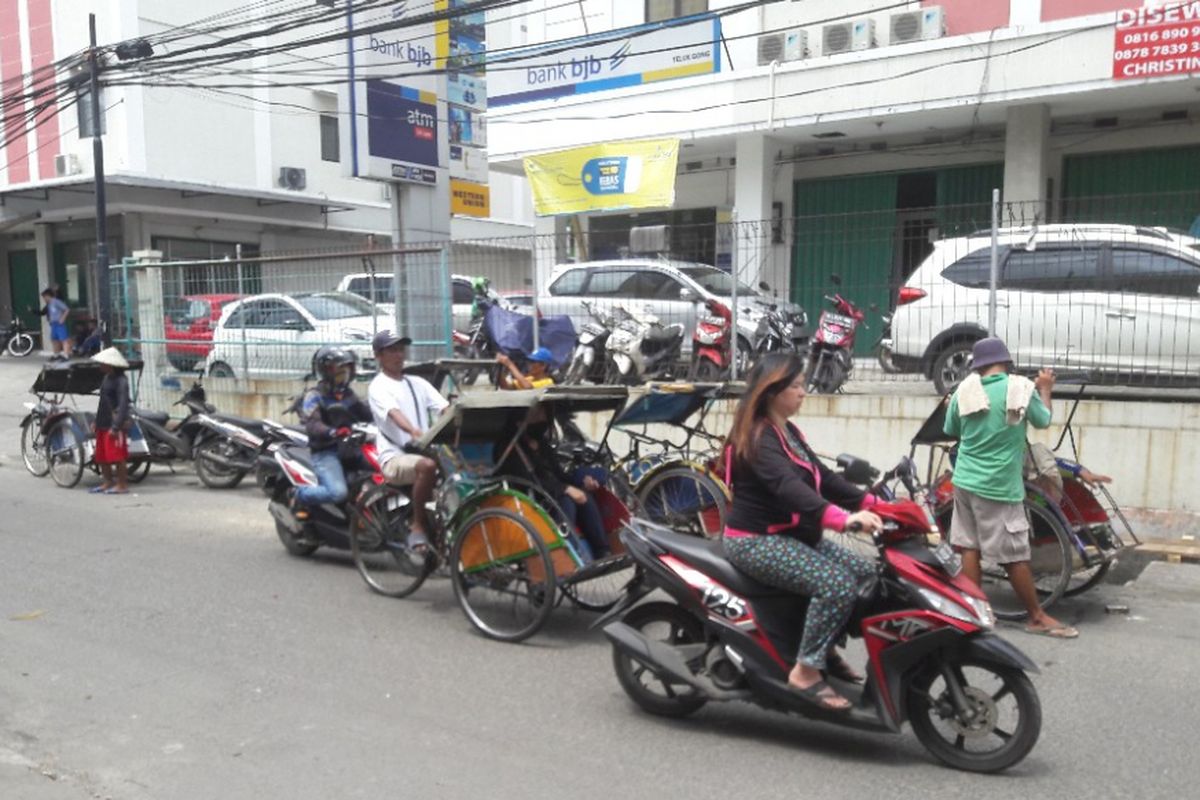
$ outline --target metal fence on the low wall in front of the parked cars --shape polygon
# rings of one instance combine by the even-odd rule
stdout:
[[[572,219],[546,236],[126,261],[113,273],[114,338],[160,377],[295,383],[325,343],[354,349],[370,371],[370,339],[385,327],[414,338],[414,359],[450,355],[452,331],[470,326],[472,279],[482,276],[509,302],[566,314],[576,330],[595,321],[584,301],[601,313],[648,312],[660,333],[678,325],[678,363],[653,378],[691,374],[710,300],[736,317],[742,369],[766,348],[768,315],[800,341],[823,313],[833,315],[827,326],[845,327],[852,308],[862,319],[850,387],[932,379],[944,389],[989,330],[1024,369],[1174,385],[1200,379],[1200,241],[1186,233],[1196,233],[1198,213],[1200,190],[996,207],[980,198],[772,221]],[[835,295],[848,305],[834,308]]]

